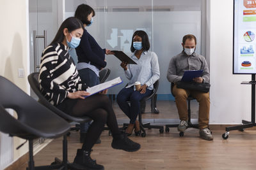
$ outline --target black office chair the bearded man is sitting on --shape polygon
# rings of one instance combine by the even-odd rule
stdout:
[[[173,86],[174,86],[174,83],[171,83],[171,93],[172,93],[172,95],[173,95]],[[188,98],[187,98],[187,101],[188,101],[188,128],[192,127],[192,128],[198,129],[198,124],[192,124],[191,123],[190,101],[192,101],[192,100],[195,100],[195,98],[192,97],[192,96],[188,96]],[[178,127],[178,126],[179,126],[179,124],[165,125],[165,132],[170,132],[169,127]],[[180,137],[184,136],[184,132],[180,132],[179,135],[180,135]]]

